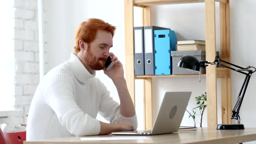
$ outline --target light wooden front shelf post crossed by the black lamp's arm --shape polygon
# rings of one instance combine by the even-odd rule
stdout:
[[[213,62],[216,57],[215,1],[205,1],[205,40],[206,61]],[[206,67],[207,126],[217,126],[217,83],[216,67]]]

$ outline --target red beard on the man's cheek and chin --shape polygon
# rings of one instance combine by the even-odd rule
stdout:
[[[104,69],[105,63],[107,61],[107,57],[96,58],[91,52],[90,44],[88,44],[88,49],[86,50],[86,55],[84,58],[86,64],[88,64],[94,70],[102,70]]]

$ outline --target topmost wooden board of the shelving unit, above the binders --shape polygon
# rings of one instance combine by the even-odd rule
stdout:
[[[227,3],[227,0],[216,0],[217,2]],[[147,7],[160,4],[182,4],[182,3],[202,3],[204,0],[133,0],[136,7]]]

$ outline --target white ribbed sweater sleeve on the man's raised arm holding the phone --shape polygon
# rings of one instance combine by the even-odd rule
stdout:
[[[121,121],[129,121],[133,125],[133,129],[137,129],[137,116],[136,113],[132,117],[124,117],[120,113],[120,105],[117,101],[113,100],[112,97],[109,96],[109,91],[107,88],[101,83],[102,90],[102,98],[100,104],[100,114],[106,118],[110,123],[117,124]]]

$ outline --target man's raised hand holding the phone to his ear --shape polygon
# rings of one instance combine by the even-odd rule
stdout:
[[[109,70],[106,70],[106,68],[104,68],[104,74],[106,74],[113,81],[116,79],[124,79],[123,64],[118,60],[114,53],[110,52],[110,56],[112,57],[111,61],[113,61],[114,64]]]

